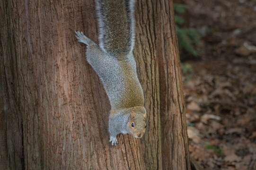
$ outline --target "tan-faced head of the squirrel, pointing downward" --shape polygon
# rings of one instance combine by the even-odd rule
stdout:
[[[146,130],[146,110],[142,106],[133,107],[127,123],[129,134],[141,138]]]

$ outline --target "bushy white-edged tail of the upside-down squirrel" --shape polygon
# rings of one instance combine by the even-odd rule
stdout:
[[[110,55],[127,55],[135,36],[134,0],[96,0],[99,46]]]

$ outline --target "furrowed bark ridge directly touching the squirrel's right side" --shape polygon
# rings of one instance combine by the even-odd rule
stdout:
[[[138,0],[136,4],[136,42],[134,56],[144,89],[148,129],[145,134],[144,160],[146,169],[161,169],[159,117],[159,75],[156,52],[155,15],[157,1]]]

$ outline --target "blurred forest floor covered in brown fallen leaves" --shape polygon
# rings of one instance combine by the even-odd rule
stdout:
[[[205,170],[256,170],[256,0],[184,1],[203,34],[183,61],[190,155]]]

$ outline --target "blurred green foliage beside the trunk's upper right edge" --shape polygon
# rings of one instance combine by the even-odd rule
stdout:
[[[181,14],[186,11],[186,6],[183,4],[174,4],[174,10],[177,13],[174,16],[175,23],[177,24],[177,38],[180,51],[186,51],[192,54],[194,57],[197,56],[195,46],[200,43],[201,36],[199,32],[194,28],[182,28],[181,25],[185,23]]]

